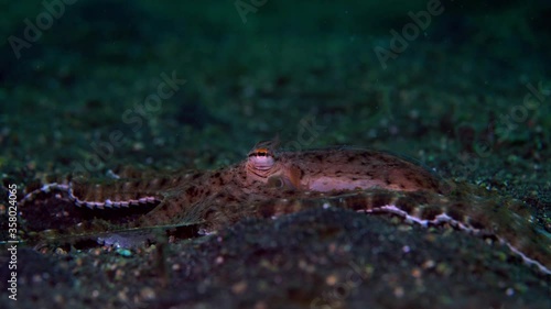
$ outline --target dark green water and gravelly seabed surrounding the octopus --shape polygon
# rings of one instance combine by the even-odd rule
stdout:
[[[551,243],[551,2],[497,2],[2,1],[2,236],[12,184],[214,169],[278,136],[518,199]],[[3,243],[0,307],[549,308],[551,277],[487,242],[317,209],[131,250],[20,244],[17,301]]]

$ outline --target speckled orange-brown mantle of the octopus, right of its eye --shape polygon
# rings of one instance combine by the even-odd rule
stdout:
[[[268,177],[249,177],[264,183],[270,177],[282,177],[300,191],[441,191],[437,178],[426,169],[387,153],[355,148],[281,152]]]

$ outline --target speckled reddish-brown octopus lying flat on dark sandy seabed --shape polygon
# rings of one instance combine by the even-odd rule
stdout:
[[[310,208],[381,213],[423,227],[445,225],[508,246],[526,264],[551,275],[551,241],[525,203],[468,184],[443,180],[392,154],[355,147],[289,152],[260,142],[242,162],[216,169],[118,179],[67,179],[30,190],[61,191],[76,206],[25,221],[26,239],[51,241],[125,231],[197,227],[215,233],[244,218],[273,218]],[[29,217],[29,216],[26,216]],[[40,216],[39,216],[40,217]],[[50,222],[51,221],[51,222]]]

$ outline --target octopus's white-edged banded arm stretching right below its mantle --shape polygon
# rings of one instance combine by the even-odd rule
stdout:
[[[531,213],[520,201],[491,196],[457,201],[422,190],[399,192],[370,189],[335,194],[266,200],[258,205],[257,217],[277,218],[321,207],[391,214],[422,227],[447,224],[473,235],[497,240],[526,264],[551,275],[551,242],[530,221]]]

